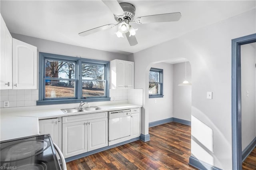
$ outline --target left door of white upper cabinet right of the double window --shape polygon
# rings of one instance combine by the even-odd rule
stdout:
[[[126,88],[126,62],[116,60],[116,89]]]

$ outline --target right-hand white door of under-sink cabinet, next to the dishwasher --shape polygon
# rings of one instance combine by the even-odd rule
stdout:
[[[88,121],[88,151],[108,146],[108,118]]]

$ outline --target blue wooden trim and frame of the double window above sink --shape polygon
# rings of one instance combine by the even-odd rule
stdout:
[[[76,76],[74,77],[74,81],[76,81],[76,90],[75,90],[75,97],[70,98],[53,98],[53,99],[45,99],[45,89],[44,89],[44,61],[45,59],[58,59],[62,61],[74,61],[76,62]],[[82,76],[81,68],[82,63],[92,63],[96,65],[105,65],[105,96],[100,97],[87,97],[86,99],[82,98]],[[54,105],[54,104],[64,104],[64,103],[78,103],[78,102],[94,102],[94,101],[110,101],[109,97],[109,61],[100,61],[94,59],[86,59],[86,58],[79,58],[79,57],[70,57],[66,55],[57,55],[57,54],[50,54],[50,53],[39,53],[39,100],[36,102],[36,105]],[[72,79],[73,80],[73,79]]]

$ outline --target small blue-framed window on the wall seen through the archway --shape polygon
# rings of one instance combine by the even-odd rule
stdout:
[[[149,98],[164,97],[163,70],[151,68],[149,71]]]

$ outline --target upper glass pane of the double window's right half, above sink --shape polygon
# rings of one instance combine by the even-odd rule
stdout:
[[[104,66],[82,63],[82,79],[104,80]]]

